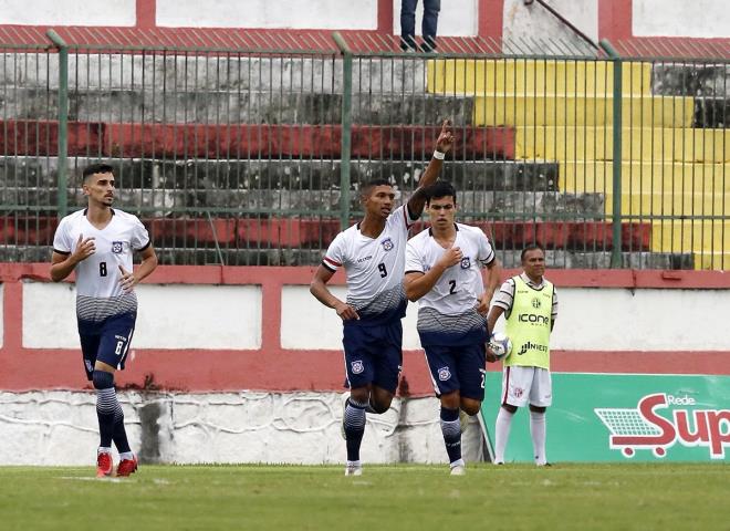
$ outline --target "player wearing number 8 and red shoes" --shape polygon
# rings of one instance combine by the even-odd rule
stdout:
[[[53,238],[51,279],[76,272],[76,317],[86,377],[96,389],[101,442],[96,476],[111,476],[112,441],[119,452],[117,476],[129,476],[137,459],[129,449],[124,414],[114,389],[114,372],[124,368],[137,316],[134,287],[157,267],[147,230],[133,215],[113,209],[113,168],[106,164],[83,171],[87,207],[63,218]],[[142,263],[133,271],[133,252]]]

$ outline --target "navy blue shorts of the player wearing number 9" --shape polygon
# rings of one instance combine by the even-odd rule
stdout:
[[[345,325],[342,344],[351,388],[373,384],[395,394],[403,365],[400,320],[375,326]]]

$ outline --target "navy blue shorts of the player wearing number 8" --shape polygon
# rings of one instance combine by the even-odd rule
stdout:
[[[136,321],[136,313],[112,315],[102,322],[79,321],[86,378],[92,379],[96,361],[124,368]]]

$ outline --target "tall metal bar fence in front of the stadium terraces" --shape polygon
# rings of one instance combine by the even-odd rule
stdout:
[[[364,183],[407,199],[449,117],[444,177],[505,266],[532,241],[552,267],[730,264],[724,50],[45,40],[2,44],[0,260],[46,261],[81,170],[106,160],[164,263],[316,264]]]

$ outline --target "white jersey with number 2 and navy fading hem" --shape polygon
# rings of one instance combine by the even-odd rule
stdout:
[[[418,300],[418,332],[424,344],[459,344],[482,341],[486,319],[476,308],[484,292],[481,269],[494,261],[494,250],[481,229],[456,225],[453,247],[460,263],[447,269],[434,288]],[[446,249],[426,229],[408,241],[406,273],[428,272]]]

